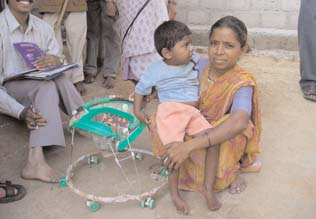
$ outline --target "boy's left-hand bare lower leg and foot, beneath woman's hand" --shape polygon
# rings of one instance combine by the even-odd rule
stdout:
[[[176,209],[183,213],[189,213],[189,206],[188,204],[181,198],[178,190],[178,177],[179,177],[179,170],[173,170],[169,172],[168,175],[168,183],[169,183],[169,192],[173,204],[176,206]]]

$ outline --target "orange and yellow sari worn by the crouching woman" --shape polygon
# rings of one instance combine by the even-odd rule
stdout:
[[[257,83],[251,73],[236,65],[214,83],[208,81],[209,66],[203,72],[201,79],[200,111],[212,126],[217,126],[229,116],[237,90],[244,86],[252,86],[252,115],[248,128],[242,134],[223,142],[220,145],[219,164],[214,185],[215,190],[227,188],[236,178],[240,165],[246,167],[252,164],[260,153],[261,118],[258,106]],[[155,121],[155,119],[152,119]],[[159,140],[155,125],[151,128],[153,136],[153,152],[162,155],[164,147]],[[204,179],[206,149],[191,153],[180,167],[179,189],[200,191]]]

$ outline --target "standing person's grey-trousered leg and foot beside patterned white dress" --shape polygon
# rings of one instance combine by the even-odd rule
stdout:
[[[102,10],[101,39],[104,41],[104,59],[100,72],[103,74],[103,86],[110,89],[114,87],[114,78],[116,77],[118,66],[121,61],[120,37],[118,34],[118,26],[116,17],[105,15],[105,2],[100,2]]]

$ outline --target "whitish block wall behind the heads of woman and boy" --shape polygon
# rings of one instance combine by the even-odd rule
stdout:
[[[297,50],[300,0],[177,0],[177,19],[194,32],[194,43],[205,46],[211,25],[233,15],[249,30],[249,44],[258,50]]]

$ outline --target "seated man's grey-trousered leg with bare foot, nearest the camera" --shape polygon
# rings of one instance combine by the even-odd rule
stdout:
[[[45,182],[57,182],[59,175],[46,162],[44,146],[65,146],[62,121],[59,112],[59,97],[52,81],[21,80],[4,85],[8,93],[24,106],[31,104],[48,123],[45,127],[30,131],[29,153],[22,177]]]

